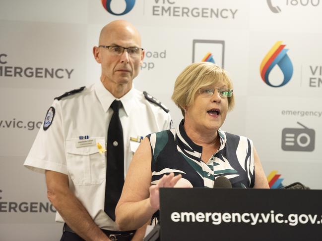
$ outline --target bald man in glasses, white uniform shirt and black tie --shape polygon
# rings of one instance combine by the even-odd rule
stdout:
[[[55,98],[24,165],[46,173],[48,198],[58,211],[56,221],[65,222],[62,241],[142,240],[144,228],[118,231],[114,208],[106,206],[109,193],[105,191],[110,190],[106,183],[113,174],[107,174],[111,170],[109,145],[124,144],[124,153],[117,154],[124,156],[124,168],[119,168],[124,170],[117,170],[122,182],[116,179],[122,191],[140,140],[169,129],[171,117],[155,98],[132,88],[144,57],[140,35],[132,24],[117,20],[106,25],[93,53],[101,64],[101,81]],[[116,110],[111,107],[114,102]],[[123,129],[123,139],[107,143],[108,132],[117,130],[109,126],[111,119],[121,122],[121,134],[116,134],[122,139]]]

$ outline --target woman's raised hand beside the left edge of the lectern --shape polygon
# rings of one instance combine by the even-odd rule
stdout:
[[[173,188],[181,178],[181,174],[175,176],[172,172],[169,175],[164,174],[156,185],[150,187],[150,205],[155,211],[160,208],[160,188]]]

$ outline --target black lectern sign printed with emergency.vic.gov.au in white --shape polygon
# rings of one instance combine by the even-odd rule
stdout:
[[[322,190],[160,189],[161,241],[321,241]]]

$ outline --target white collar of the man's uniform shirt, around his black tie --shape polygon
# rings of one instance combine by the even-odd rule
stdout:
[[[95,92],[105,112],[108,111],[112,102],[115,99],[121,100],[124,111],[128,116],[130,114],[130,111],[133,109],[133,105],[134,105],[134,101],[132,101],[134,97],[133,86],[129,90],[129,92],[125,96],[122,96],[120,99],[114,97],[107,89],[105,89],[101,81],[95,84]]]

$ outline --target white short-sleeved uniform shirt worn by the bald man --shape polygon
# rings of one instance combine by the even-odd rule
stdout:
[[[44,131],[39,130],[24,166],[44,173],[52,170],[68,175],[69,189],[83,203],[94,222],[103,229],[118,230],[104,212],[106,152],[99,153],[97,143],[106,148],[107,130],[115,97],[101,82],[82,92],[55,100],[54,118]],[[124,174],[139,143],[130,138],[170,128],[171,117],[160,106],[148,101],[132,88],[120,98],[119,115],[124,137]],[[90,145],[79,146],[80,136]],[[64,222],[57,212],[56,221]]]

